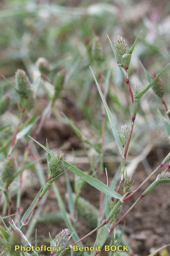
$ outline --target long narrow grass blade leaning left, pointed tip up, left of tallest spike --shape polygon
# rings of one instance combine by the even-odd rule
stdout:
[[[90,70],[92,71],[91,67],[90,67]],[[106,109],[106,112],[107,112],[107,116],[109,118],[109,121],[110,121],[110,124],[111,124],[111,127],[112,127],[112,132],[113,132],[113,135],[115,137],[115,141],[117,143],[117,147],[119,149],[120,154],[123,155],[122,142],[121,142],[121,139],[120,139],[120,136],[119,136],[119,132],[118,132],[117,126],[115,124],[115,120],[113,119],[113,116],[112,116],[112,114],[110,112],[110,109],[109,109],[109,107],[107,105],[107,102],[106,102],[106,100],[105,100],[105,98],[103,96],[103,93],[101,92],[100,85],[98,84],[98,82],[96,80],[96,77],[94,76],[93,71],[92,71],[92,75],[94,77],[95,83],[96,83],[98,91],[100,93],[100,97],[101,97],[101,99],[103,101],[103,104],[105,106],[105,109]]]

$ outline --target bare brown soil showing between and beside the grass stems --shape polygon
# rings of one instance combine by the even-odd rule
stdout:
[[[51,124],[48,125],[48,124]],[[75,144],[76,136],[74,132],[70,130],[68,126],[62,127],[60,122],[53,122],[51,119],[42,129],[42,134],[40,135],[39,141],[45,144],[42,138],[48,138],[48,143],[50,147],[57,147],[60,146],[64,141],[74,141],[73,145],[76,148],[78,144]],[[53,127],[54,125],[54,127]],[[48,127],[48,128],[47,128]],[[49,129],[50,127],[50,129]],[[51,137],[50,134],[53,134]],[[46,136],[44,136],[46,135]],[[56,138],[55,138],[56,136]],[[60,137],[60,140],[58,139]],[[53,138],[53,140],[52,140]],[[74,139],[73,139],[74,138]],[[51,140],[50,140],[51,139]],[[54,141],[59,141],[59,145],[55,145]],[[72,145],[72,146],[73,146]],[[77,145],[77,146],[76,146]],[[72,147],[70,146],[70,148]],[[41,149],[40,149],[41,151]],[[166,155],[167,152],[164,152]],[[148,161],[154,169],[154,167],[158,166],[158,162],[156,161],[156,153],[152,151],[148,156]],[[86,171],[88,170],[88,166],[85,165],[78,165],[79,169]],[[112,179],[114,173],[111,170],[114,168],[107,168],[109,180]],[[70,176],[70,180],[73,180],[73,175],[71,172],[68,172]],[[134,188],[136,188],[142,181],[147,177],[147,173],[144,170],[142,164],[138,166],[135,174],[134,174]],[[143,189],[145,189],[152,181],[148,182]],[[72,182],[73,183],[73,182]],[[72,184],[71,183],[71,184]],[[64,199],[66,208],[67,203],[65,201],[65,182],[64,177],[60,177],[59,181],[56,181],[57,187],[59,188],[61,195]],[[134,197],[130,198],[123,207],[123,213],[131,206],[135,200],[140,196],[140,194],[144,190],[140,190]],[[27,191],[23,194],[22,197],[22,207],[26,208],[29,207],[31,202],[33,201],[35,195],[38,192],[37,184],[33,189],[27,189]],[[99,192],[91,187],[89,184],[86,184],[83,188],[82,194],[87,200],[89,200],[92,204],[94,204],[97,208],[99,206]],[[159,186],[152,191],[149,195],[144,197],[137,206],[129,213],[129,215],[124,219],[126,221],[126,229],[125,229],[125,238],[127,239],[129,245],[132,247],[135,253],[140,256],[147,256],[150,253],[151,248],[158,248],[170,242],[170,189],[169,184],[159,184]],[[15,204],[14,204],[15,205]],[[47,212],[55,212],[57,211],[58,203],[56,201],[53,189],[50,189],[50,193],[48,194],[48,200],[43,207],[42,214]],[[123,222],[122,222],[123,224]],[[77,223],[77,232],[78,236],[82,237],[91,231],[91,228],[85,223],[84,220],[79,218]],[[121,227],[121,225],[120,225]],[[54,237],[55,234],[60,231],[62,228],[65,228],[65,224],[63,221],[60,223],[39,223],[36,226],[38,240],[40,244],[47,242],[48,244],[48,232],[50,232],[51,236]],[[24,228],[23,231],[25,232],[26,229]],[[34,236],[34,234],[33,234]],[[95,241],[95,235],[91,236],[90,244],[92,245]],[[48,255],[48,254],[47,254]],[[102,253],[102,255],[105,255]]]

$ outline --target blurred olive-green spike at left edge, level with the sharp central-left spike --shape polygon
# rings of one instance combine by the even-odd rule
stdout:
[[[13,157],[8,157],[2,167],[1,170],[1,179],[9,185],[14,179],[14,174],[16,173],[16,164],[15,159]]]

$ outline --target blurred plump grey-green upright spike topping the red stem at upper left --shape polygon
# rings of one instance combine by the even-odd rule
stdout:
[[[17,85],[18,92],[21,96],[27,98],[30,94],[30,80],[26,75],[26,72],[22,69],[18,69],[15,73],[15,83]]]

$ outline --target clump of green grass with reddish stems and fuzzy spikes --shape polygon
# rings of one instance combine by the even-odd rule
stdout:
[[[3,206],[3,215],[6,213],[6,208],[8,207],[8,220],[10,228],[7,227],[3,218],[1,217],[1,221],[3,224],[3,228],[1,227],[0,232],[2,236],[2,244],[5,245],[6,243],[11,244],[12,250],[14,243],[16,241],[21,244],[29,244],[27,236],[24,234],[23,228],[25,226],[28,227],[27,232],[33,233],[35,224],[38,221],[37,216],[41,212],[41,208],[45,200],[47,199],[47,191],[53,189],[54,195],[59,204],[60,211],[63,215],[63,219],[67,228],[64,228],[60,231],[54,239],[49,239],[50,245],[60,246],[61,252],[51,252],[51,255],[55,256],[62,256],[66,254],[69,250],[72,250],[72,246],[76,244],[80,244],[83,246],[82,241],[85,238],[90,237],[93,233],[97,231],[96,241],[94,242],[94,246],[97,244],[102,248],[106,243],[107,239],[110,239],[110,243],[119,243],[122,239],[122,234],[119,236],[119,239],[116,239],[115,234],[119,230],[118,224],[126,217],[127,214],[136,206],[136,204],[144,198],[147,194],[152,193],[152,190],[156,188],[161,183],[169,183],[170,182],[170,153],[162,160],[159,166],[135,189],[131,192],[131,188],[135,181],[133,181],[130,177],[128,177],[126,172],[126,160],[129,153],[129,145],[132,138],[134,123],[137,118],[137,111],[138,106],[140,104],[140,98],[145,97],[145,93],[152,87],[155,94],[163,101],[163,96],[165,92],[165,88],[163,86],[163,82],[160,78],[160,75],[163,71],[168,67],[166,65],[159,74],[156,73],[148,76],[149,79],[152,78],[149,84],[141,90],[141,87],[138,84],[133,86],[131,90],[131,85],[128,76],[128,69],[130,65],[131,55],[137,43],[137,38],[134,44],[128,49],[127,44],[122,36],[117,36],[115,39],[115,44],[112,44],[110,41],[112,49],[115,53],[115,58],[117,64],[122,72],[124,77],[125,83],[128,85],[129,89],[129,96],[131,97],[132,103],[130,105],[132,115],[129,117],[131,122],[130,129],[126,124],[122,125],[120,130],[118,130],[115,120],[111,114],[111,110],[107,105],[107,91],[106,86],[104,85],[104,72],[102,70],[102,64],[105,61],[102,56],[102,47],[100,44],[100,38],[94,36],[94,42],[92,46],[91,56],[93,56],[94,66],[97,67],[97,77],[99,79],[99,83],[92,71],[92,75],[94,77],[95,83],[97,85],[98,91],[101,97],[101,132],[100,132],[100,143],[99,141],[92,142],[88,140],[82,132],[76,127],[76,125],[70,120],[67,119],[67,122],[70,124],[72,129],[80,138],[84,148],[85,153],[87,155],[87,159],[89,160],[90,168],[88,172],[82,172],[76,166],[68,163],[66,159],[64,159],[63,153],[57,149],[57,153],[53,150],[50,150],[48,147],[48,140],[46,141],[46,146],[42,145],[39,141],[37,141],[37,137],[40,135],[41,129],[45,122],[48,122],[51,114],[53,113],[57,120],[62,120],[63,117],[57,111],[57,107],[55,105],[55,101],[58,99],[63,99],[62,90],[66,90],[63,86],[66,83],[66,78],[68,82],[68,74],[65,69],[61,68],[57,72],[55,72],[55,68],[52,68],[48,60],[45,58],[39,58],[36,62],[36,67],[39,69],[40,75],[36,82],[31,83],[26,72],[24,70],[18,69],[16,71],[16,86],[11,84],[10,81],[7,81],[8,84],[12,86],[15,92],[19,95],[18,97],[18,112],[19,112],[19,119],[16,129],[14,133],[11,134],[11,138],[5,144],[5,147],[1,148],[1,152],[3,153],[3,160],[4,164],[1,170],[1,193],[4,194],[4,206]],[[148,74],[148,73],[147,73]],[[37,118],[37,107],[34,104],[29,103],[29,100],[33,98],[33,95],[36,93],[34,89],[36,86],[40,86],[41,84],[50,84],[53,86],[53,95],[46,93],[46,98],[48,99],[48,104],[44,111],[42,112],[40,118]],[[123,92],[122,92],[123,93]],[[36,95],[35,95],[36,96]],[[5,94],[1,99],[1,107],[0,113],[1,115],[5,114],[5,111],[8,109],[9,104],[9,96]],[[34,99],[33,99],[34,100]],[[165,104],[164,104],[165,105]],[[30,107],[31,106],[31,107]],[[167,106],[166,106],[167,107]],[[167,109],[166,109],[167,110]],[[105,184],[104,182],[104,175],[107,170],[104,168],[104,155],[105,151],[105,136],[106,136],[106,115],[108,116],[109,122],[111,124],[113,137],[115,138],[115,143],[117,145],[117,154],[120,155],[121,158],[121,168],[119,171],[120,180],[116,180],[116,175],[113,177],[112,186]],[[35,125],[35,131],[33,132],[33,125]],[[170,127],[169,120],[166,120],[166,127]],[[6,127],[2,127],[2,130],[5,130]],[[30,136],[31,135],[31,136]],[[24,152],[22,155],[17,156],[18,154],[18,140],[23,143]],[[111,138],[110,138],[111,140]],[[47,168],[46,172],[44,173],[41,169],[41,164],[38,165],[37,163],[41,163],[42,158],[37,153],[35,145],[33,145],[33,141],[36,142],[39,146],[41,146],[46,155],[43,157],[43,160],[46,159],[47,161]],[[88,146],[88,147],[87,147]],[[95,151],[95,155],[97,156],[95,161],[92,160],[87,152],[87,149]],[[168,164],[167,164],[168,163]],[[167,164],[167,165],[166,165]],[[141,193],[141,196],[135,201],[135,203],[121,216],[123,204],[131,197],[136,194],[136,192],[142,188],[150,178],[159,171],[159,169],[165,166],[165,170],[161,172],[156,180],[148,186]],[[29,208],[26,212],[22,213],[21,218],[21,192],[22,192],[22,174],[27,168],[27,166],[34,166],[37,170],[38,176],[41,182],[41,188],[37,195],[35,196],[33,202],[30,204]],[[99,169],[99,172],[95,172],[95,167]],[[68,176],[68,171],[74,173],[74,191],[70,184],[70,179]],[[68,200],[68,208],[70,214],[68,215],[66,211],[66,207],[64,205],[63,199],[58,191],[58,188],[55,184],[55,181],[60,178],[60,176],[65,175],[65,182],[67,188],[67,200]],[[47,178],[48,176],[48,178]],[[81,179],[77,179],[77,177]],[[98,189],[100,194],[100,203],[99,203],[99,210],[96,209],[92,204],[87,202],[84,198],[80,196],[85,183],[89,183],[95,189]],[[113,188],[113,184],[115,187]],[[52,185],[52,186],[51,186]],[[17,218],[13,219],[13,215],[11,214],[11,194],[12,188],[17,187],[14,193],[16,196],[16,214],[18,214]],[[123,188],[123,193],[121,195],[121,188]],[[51,192],[51,190],[50,190]],[[40,202],[41,201],[41,202]],[[40,212],[39,212],[40,211]],[[85,234],[83,237],[79,238],[77,234],[77,220],[78,217],[83,217],[88,223],[91,225],[92,229],[88,234]],[[121,217],[120,217],[121,216]],[[16,216],[15,216],[16,217]],[[21,220],[20,220],[21,219]],[[29,223],[29,224],[28,224]],[[19,228],[18,228],[19,227]],[[31,227],[31,228],[30,228]],[[30,228],[30,230],[29,230]],[[115,230],[115,233],[113,232]],[[50,232],[50,230],[49,230]],[[30,233],[29,233],[30,234]],[[68,241],[70,239],[70,234],[72,234],[71,245],[68,246]],[[22,238],[22,239],[21,239]],[[24,240],[24,241],[23,241]],[[37,235],[35,234],[35,241],[34,244],[37,245]],[[67,247],[67,248],[65,248]],[[4,254],[3,254],[4,253]],[[15,252],[12,252],[15,253]],[[72,251],[71,251],[72,253]],[[91,256],[99,254],[100,251],[95,251],[91,253]],[[1,255],[5,255],[5,252],[2,252]],[[15,255],[15,254],[14,254]],[[31,253],[23,253],[23,255],[32,255]],[[87,255],[85,252],[82,255]],[[109,254],[110,255],[110,254]],[[129,255],[129,254],[127,254]]]

